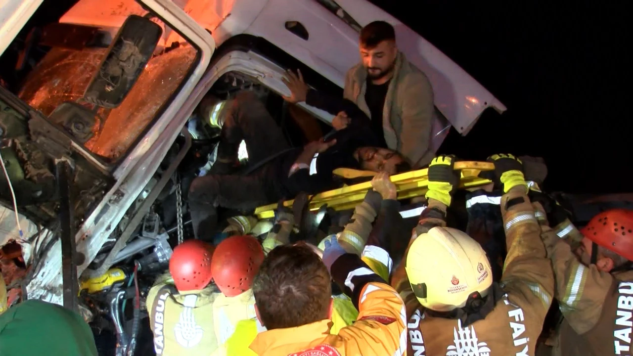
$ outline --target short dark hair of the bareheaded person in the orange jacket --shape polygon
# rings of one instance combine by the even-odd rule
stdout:
[[[274,248],[253,281],[261,322],[268,330],[297,327],[327,318],[330,274],[305,243]]]

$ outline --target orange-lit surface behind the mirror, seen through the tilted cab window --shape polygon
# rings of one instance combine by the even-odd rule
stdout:
[[[51,49],[28,76],[20,98],[44,115],[64,101],[77,101],[105,53],[106,49]],[[95,125],[86,148],[109,162],[121,158],[185,79],[195,57],[194,48],[182,46],[152,58],[118,108],[99,110],[103,128],[97,132],[99,124]]]

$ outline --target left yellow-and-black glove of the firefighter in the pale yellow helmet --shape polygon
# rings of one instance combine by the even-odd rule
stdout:
[[[460,172],[454,170],[455,156],[437,156],[429,165],[429,191],[425,197],[451,205],[453,192],[460,185]]]

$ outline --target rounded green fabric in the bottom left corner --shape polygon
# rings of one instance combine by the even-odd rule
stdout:
[[[97,355],[82,317],[56,304],[27,300],[0,315],[0,356]]]

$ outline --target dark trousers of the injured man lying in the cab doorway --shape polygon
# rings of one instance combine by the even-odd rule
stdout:
[[[282,130],[253,92],[240,92],[225,105],[218,160],[237,156],[244,140],[249,165],[289,148]],[[217,164],[217,163],[215,163]],[[249,175],[208,174],[189,188],[189,210],[197,239],[209,239],[218,223],[217,207],[252,210],[281,198],[275,165],[265,163]]]

